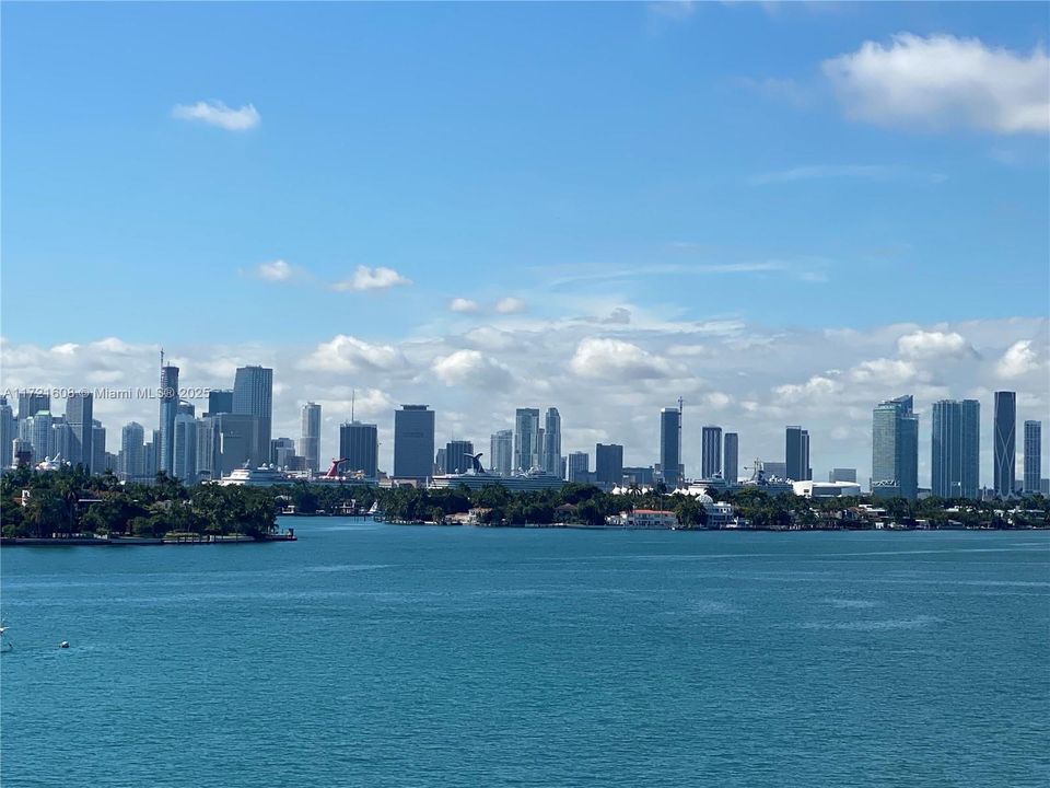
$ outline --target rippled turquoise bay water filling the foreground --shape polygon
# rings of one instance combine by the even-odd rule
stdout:
[[[1050,783],[1048,533],[284,524],[4,549],[4,788]]]

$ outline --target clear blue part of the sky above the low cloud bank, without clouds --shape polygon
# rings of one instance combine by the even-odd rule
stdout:
[[[901,31],[1027,55],[1046,30],[1035,3],[7,4],[3,331],[311,340],[352,313],[397,336],[452,297],[580,289],[807,326],[1043,314],[1017,285],[1047,283],[1046,137],[856,123],[820,63]],[[209,100],[260,123],[171,115]],[[804,167],[861,170],[767,179]],[[277,258],[415,286],[245,276]],[[703,273],[771,260],[805,276]],[[42,271],[45,321],[20,297]],[[85,290],[115,309],[85,320]]]

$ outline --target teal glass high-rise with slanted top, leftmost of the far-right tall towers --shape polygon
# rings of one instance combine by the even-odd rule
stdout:
[[[882,402],[872,413],[872,494],[919,496],[919,417],[910,394]]]

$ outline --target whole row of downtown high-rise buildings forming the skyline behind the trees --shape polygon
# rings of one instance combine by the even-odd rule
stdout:
[[[179,397],[179,370],[164,364],[158,390],[159,419],[147,430],[130,422],[120,431],[120,449],[106,451],[105,427],[93,418],[93,395],[70,392],[65,414],[51,413],[51,396],[20,392],[18,415],[0,397],[0,466],[48,463],[81,464],[92,473],[110,470],[121,479],[150,482],[158,472],[186,483],[220,479],[238,468],[271,466],[302,478],[322,465],[322,406],[302,405],[298,442],[272,437],[273,370],[247,366],[236,370],[232,387],[210,390],[207,410]],[[1016,474],[1018,449],[1016,393],[994,393],[991,488],[980,480],[981,405],[976,399],[943,399],[931,408],[930,487],[919,485],[919,415],[911,395],[878,403],[872,415],[872,475],[876,497],[914,500],[921,494],[942,498],[1006,498],[1018,494],[1047,495],[1041,475],[1042,425],[1023,425],[1019,448],[1022,474]],[[660,448],[655,462],[623,464],[623,445],[597,443],[592,455],[562,449],[561,414],[556,407],[517,408],[514,428],[489,438],[486,473],[502,477],[530,477],[546,482],[596,484],[605,489],[663,484],[668,489],[688,486],[682,463],[682,403],[658,414]],[[435,413],[428,405],[406,404],[394,413],[393,466],[380,468],[378,425],[353,418],[339,426],[339,452],[328,475],[361,482],[428,484],[440,477],[481,467],[482,451],[470,440],[454,439],[438,447]],[[708,487],[757,484],[771,491],[802,495],[860,493],[855,468],[836,467],[828,482],[813,479],[809,432],[797,425],[784,430],[784,454],[740,465],[739,434],[718,425],[700,429],[700,476],[693,483]],[[749,471],[742,479],[742,471]]]

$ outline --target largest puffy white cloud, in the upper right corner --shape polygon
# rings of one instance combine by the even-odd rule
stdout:
[[[848,117],[879,126],[1050,130],[1050,59],[953,35],[900,33],[822,63]]]

